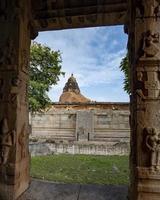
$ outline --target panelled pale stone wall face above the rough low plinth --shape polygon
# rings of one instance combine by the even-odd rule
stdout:
[[[106,103],[107,104],[107,103]],[[128,142],[129,110],[127,107],[117,109],[97,108],[94,104],[84,105],[77,109],[78,105],[72,104],[72,109],[56,108],[54,106],[43,114],[32,116],[31,138],[49,139],[55,141],[99,141],[99,142]],[[118,105],[118,104],[117,104]],[[90,109],[90,106],[92,109]],[[84,134],[77,137],[79,129],[85,130]],[[89,133],[89,134],[88,134]]]

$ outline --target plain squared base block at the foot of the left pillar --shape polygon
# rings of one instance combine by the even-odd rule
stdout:
[[[14,166],[1,167],[0,200],[16,200],[29,186],[30,157],[24,158]]]

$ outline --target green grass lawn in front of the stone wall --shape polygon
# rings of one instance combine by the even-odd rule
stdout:
[[[128,156],[51,155],[31,159],[31,176],[63,183],[128,184]]]

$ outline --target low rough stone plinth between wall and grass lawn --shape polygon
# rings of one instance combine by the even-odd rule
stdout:
[[[129,142],[56,142],[55,140],[30,142],[32,156],[52,154],[128,155]]]

